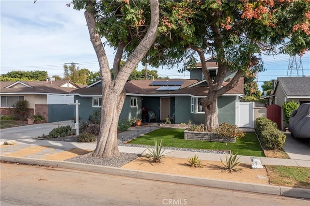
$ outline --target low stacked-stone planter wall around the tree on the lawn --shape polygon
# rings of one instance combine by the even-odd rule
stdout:
[[[201,140],[209,142],[229,142],[235,143],[236,138],[234,137],[220,137],[217,133],[214,132],[193,132],[193,131],[184,131],[184,139],[188,140]]]

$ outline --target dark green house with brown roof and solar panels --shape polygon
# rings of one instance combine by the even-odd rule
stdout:
[[[217,74],[217,66],[214,59],[209,59],[209,73]],[[169,80],[131,80],[125,84],[126,99],[120,115],[122,118],[142,118],[142,107],[154,111],[156,121],[166,121],[171,117],[174,123],[193,124],[204,123],[204,111],[201,100],[207,96],[208,87],[203,78],[202,69],[199,67],[190,69],[191,79],[169,79]],[[223,83],[227,85],[233,75],[230,73]],[[192,79],[194,78],[194,79]],[[101,81],[97,81],[86,88],[79,88],[72,91],[75,100],[78,100],[81,107],[79,116],[87,120],[93,110],[101,106]],[[243,78],[240,78],[237,86],[221,97],[217,98],[218,120],[238,125],[239,98],[243,96]],[[155,121],[155,119],[153,120]]]

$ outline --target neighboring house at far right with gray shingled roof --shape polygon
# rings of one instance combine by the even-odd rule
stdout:
[[[273,93],[269,96],[269,104],[277,104],[282,107],[285,102],[310,103],[310,77],[278,77]],[[283,111],[281,111],[283,112]],[[283,114],[282,130],[285,123]]]

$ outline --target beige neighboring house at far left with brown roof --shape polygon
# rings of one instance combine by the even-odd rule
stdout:
[[[74,117],[74,96],[80,86],[69,80],[0,82],[1,115],[11,115],[13,104],[27,100],[32,115],[41,115],[47,122],[69,120]],[[68,109],[70,108],[70,109]]]

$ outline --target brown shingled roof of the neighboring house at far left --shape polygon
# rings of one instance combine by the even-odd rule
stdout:
[[[79,88],[78,85],[69,81],[16,81],[16,82],[0,82],[1,94],[14,93],[70,93],[76,88],[65,87],[67,83]]]

